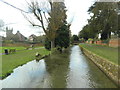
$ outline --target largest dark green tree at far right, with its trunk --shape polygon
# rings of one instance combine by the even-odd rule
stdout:
[[[94,31],[101,33],[101,39],[109,39],[111,32],[117,31],[117,3],[96,2],[88,10],[93,16],[90,19],[91,25],[96,23]]]

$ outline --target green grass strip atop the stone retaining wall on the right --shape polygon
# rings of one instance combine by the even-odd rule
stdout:
[[[109,61],[118,64],[118,48],[112,48],[108,46],[101,46],[95,44],[80,44],[81,47],[108,59]]]

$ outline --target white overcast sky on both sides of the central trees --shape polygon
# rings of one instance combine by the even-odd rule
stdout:
[[[27,10],[25,0],[4,0],[20,9]],[[70,27],[72,34],[78,34],[84,25],[87,24],[87,19],[90,18],[87,10],[94,3],[95,0],[65,0],[65,5],[67,7],[67,21],[72,21]],[[0,0],[0,19],[8,25],[9,28],[13,28],[13,33],[19,30],[26,37],[31,34],[40,35],[43,32],[42,29],[32,27],[26,19],[23,17],[21,12],[9,5],[4,4]],[[0,35],[4,35],[1,33]]]

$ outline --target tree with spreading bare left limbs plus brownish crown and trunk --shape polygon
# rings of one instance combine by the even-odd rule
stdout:
[[[33,26],[43,29],[47,38],[51,41],[51,48],[54,48],[56,31],[62,26],[66,18],[66,10],[63,2],[53,2],[52,0],[44,2],[27,2],[30,14],[23,13],[24,17]],[[47,6],[47,7],[45,7]],[[46,26],[47,24],[47,26]]]

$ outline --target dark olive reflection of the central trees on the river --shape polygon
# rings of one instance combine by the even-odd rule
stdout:
[[[50,75],[51,88],[65,88],[69,73],[69,51],[55,54],[45,59],[46,69]]]

